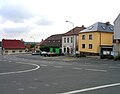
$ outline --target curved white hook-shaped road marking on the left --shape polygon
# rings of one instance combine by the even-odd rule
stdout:
[[[31,72],[31,71],[38,70],[38,69],[40,68],[40,66],[39,66],[39,65],[37,65],[37,64],[32,64],[32,63],[23,63],[23,62],[16,62],[16,63],[20,63],[20,64],[27,64],[27,65],[33,65],[33,66],[36,66],[36,68],[34,68],[34,69],[29,69],[29,70],[23,70],[23,71],[4,72],[4,73],[0,73],[0,75],[26,73],[26,72]]]

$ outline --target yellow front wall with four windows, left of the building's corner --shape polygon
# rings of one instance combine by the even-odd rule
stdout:
[[[82,35],[85,35],[85,40],[82,40]],[[92,40],[89,40],[89,35],[92,35]],[[80,52],[98,53],[99,51],[100,36],[98,32],[93,33],[80,33],[79,34],[79,46]],[[85,44],[85,48],[82,48],[82,44]],[[92,44],[92,49],[89,49],[89,44]]]

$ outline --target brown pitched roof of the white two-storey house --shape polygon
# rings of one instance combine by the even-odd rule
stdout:
[[[68,31],[67,33],[65,33],[63,36],[70,36],[70,35],[78,35],[80,31],[84,30],[85,27],[75,27],[72,30]]]

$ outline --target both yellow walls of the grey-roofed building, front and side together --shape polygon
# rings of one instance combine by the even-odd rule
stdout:
[[[85,35],[85,40],[82,40],[82,35]],[[89,35],[92,35],[92,40],[89,40]],[[99,53],[100,45],[112,45],[112,36],[113,33],[106,32],[79,33],[78,50],[80,52]],[[82,44],[85,44],[85,48],[82,48]],[[89,49],[89,44],[92,44],[92,49]]]

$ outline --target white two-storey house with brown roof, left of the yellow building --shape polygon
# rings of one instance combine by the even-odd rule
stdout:
[[[84,29],[84,26],[75,27],[62,36],[62,53],[73,54],[74,50],[78,51],[78,34]]]

